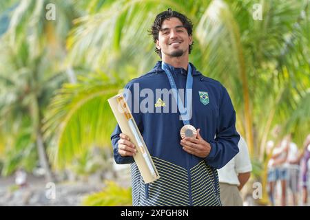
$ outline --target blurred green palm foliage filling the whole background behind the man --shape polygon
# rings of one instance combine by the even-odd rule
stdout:
[[[116,124],[107,98],[158,60],[147,30],[167,8],[192,19],[190,61],[227,87],[238,131],[254,137],[254,156],[264,155],[276,124],[282,135],[294,131],[298,146],[310,131],[309,0],[16,3],[0,3],[0,27],[12,10],[0,36],[2,173],[33,166],[38,127],[57,166],[75,161],[78,173],[92,172],[87,149],[110,146]],[[44,19],[46,3],[56,4],[56,22]],[[261,21],[252,17],[254,3],[262,5]],[[68,69],[77,82],[63,84]],[[21,123],[25,117],[31,123]]]

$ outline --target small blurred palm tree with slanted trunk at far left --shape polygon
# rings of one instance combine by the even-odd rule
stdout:
[[[29,146],[32,147],[33,142],[36,143],[40,164],[46,171],[47,179],[52,180],[42,137],[41,118],[52,91],[59,87],[65,78],[61,72],[56,74],[50,72],[51,66],[48,57],[44,54],[31,59],[30,47],[27,44],[21,45],[16,54],[10,47],[5,49],[6,52],[1,51],[7,60],[6,69],[4,74],[1,74],[0,80],[1,124],[6,128],[6,133],[12,137],[14,132],[11,133],[11,131],[14,131],[14,126],[18,128],[17,136],[30,126],[30,130],[26,129],[31,134],[27,136],[30,139]],[[4,61],[4,58],[1,60]],[[14,74],[10,74],[11,72]],[[42,72],[44,74],[41,74]],[[18,147],[17,142],[13,143]],[[24,146],[23,151],[27,151],[27,145]]]

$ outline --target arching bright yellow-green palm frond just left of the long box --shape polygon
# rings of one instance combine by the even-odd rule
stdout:
[[[122,82],[113,83],[103,74],[79,77],[65,84],[51,101],[43,129],[45,138],[56,143],[54,162],[59,167],[81,157],[90,146],[109,146],[116,121],[107,102]]]

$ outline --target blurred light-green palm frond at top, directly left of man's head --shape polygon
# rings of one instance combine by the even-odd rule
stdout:
[[[73,66],[85,61],[94,69],[103,68],[105,72],[121,76],[125,75],[121,70],[127,66],[140,67],[138,72],[147,71],[157,56],[152,52],[154,43],[147,30],[156,12],[167,8],[185,10],[176,1],[157,4],[152,0],[131,0],[103,4],[98,13],[76,19],[67,41],[68,61]]]

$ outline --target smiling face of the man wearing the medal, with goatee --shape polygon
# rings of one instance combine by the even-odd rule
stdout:
[[[178,18],[172,17],[163,21],[156,47],[161,50],[162,57],[178,57],[188,54],[192,42],[192,36],[188,35],[183,23]]]

